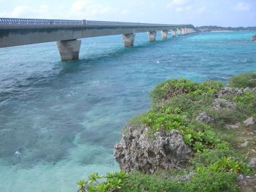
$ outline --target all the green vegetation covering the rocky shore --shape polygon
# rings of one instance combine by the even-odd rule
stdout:
[[[256,87],[256,73],[232,77],[228,84],[236,88]],[[225,103],[221,110],[212,108],[214,99],[223,88],[214,81],[194,83],[184,78],[170,79],[156,86],[150,93],[152,108],[147,113],[132,118],[129,124],[140,129],[150,127],[148,138],[154,140],[156,132],[167,134],[172,130],[182,133],[183,140],[195,152],[186,168],[159,170],[154,175],[140,172],[113,173],[115,181],[98,183],[99,175],[90,176],[88,182],[79,182],[81,192],[100,188],[101,191],[239,191],[236,186],[237,175],[255,174],[246,166],[246,158],[235,150],[236,138],[225,128],[227,124],[243,122],[256,114],[256,93],[247,90],[240,95],[219,95],[221,99],[234,102],[228,109]],[[196,116],[206,112],[214,118],[214,123],[200,122]],[[233,131],[234,132],[234,131]],[[190,180],[175,181],[161,177],[162,174],[179,177],[193,173]],[[124,174],[124,177],[118,176]],[[119,180],[117,182],[117,180]],[[96,184],[93,184],[93,182]]]

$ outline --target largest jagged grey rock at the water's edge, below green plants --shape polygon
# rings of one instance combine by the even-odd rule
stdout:
[[[139,170],[154,173],[158,169],[167,170],[174,166],[184,166],[193,155],[193,150],[184,143],[179,131],[163,135],[156,132],[154,140],[147,137],[147,130],[129,127],[114,148],[114,156],[121,170]]]

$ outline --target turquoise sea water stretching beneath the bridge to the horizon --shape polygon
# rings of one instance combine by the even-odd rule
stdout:
[[[118,170],[125,122],[171,77],[227,81],[256,70],[255,31],[198,33],[148,42],[137,34],[83,39],[79,61],[54,42],[0,49],[0,191],[76,191],[92,172]]]

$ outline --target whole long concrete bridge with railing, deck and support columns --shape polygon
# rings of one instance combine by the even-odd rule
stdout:
[[[148,40],[156,40],[157,31],[163,39],[195,33],[191,24],[147,24],[139,22],[107,22],[95,20],[49,20],[0,18],[0,48],[17,45],[57,42],[61,61],[79,59],[81,40],[93,36],[122,35],[125,47],[132,47],[135,33],[148,33]]]

